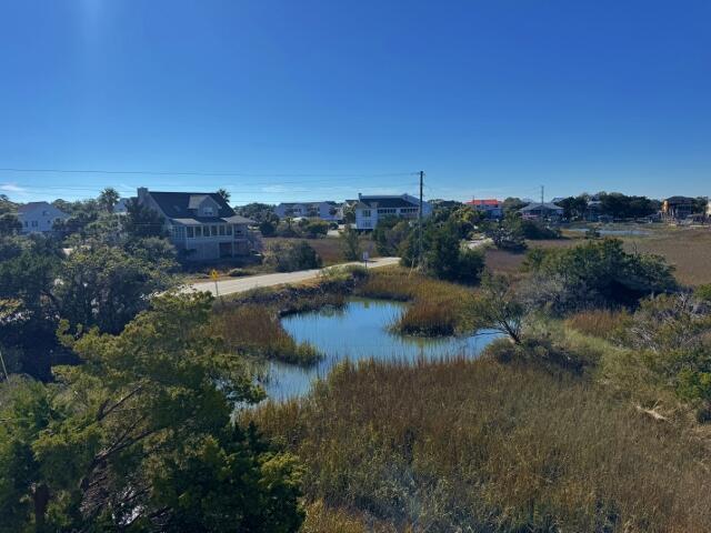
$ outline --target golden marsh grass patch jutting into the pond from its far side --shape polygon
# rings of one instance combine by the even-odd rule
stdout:
[[[392,329],[410,335],[452,335],[464,325],[464,308],[472,289],[433,280],[402,268],[380,269],[370,273],[358,289],[368,298],[410,302]]]

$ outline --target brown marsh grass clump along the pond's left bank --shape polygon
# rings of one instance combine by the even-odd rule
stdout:
[[[213,333],[240,354],[310,365],[323,354],[309,343],[296,342],[281,325],[279,313],[264,305],[242,305],[214,313]]]

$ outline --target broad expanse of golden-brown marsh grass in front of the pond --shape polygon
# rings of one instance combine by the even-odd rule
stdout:
[[[690,431],[530,362],[344,363],[249,415],[304,461],[310,501],[398,531],[711,530]]]

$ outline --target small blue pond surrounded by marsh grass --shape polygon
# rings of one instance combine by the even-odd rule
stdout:
[[[391,333],[389,326],[404,305],[387,300],[353,298],[342,309],[324,309],[282,319],[284,329],[297,342],[310,342],[324,358],[308,369],[270,363],[270,378],[264,383],[269,398],[284,400],[307,394],[314,379],[326,378],[344,359],[412,362],[418,359],[474,358],[497,338],[492,331],[481,331],[474,336],[438,339]]]

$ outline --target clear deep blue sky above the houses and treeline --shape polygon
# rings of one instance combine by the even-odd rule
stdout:
[[[707,195],[711,1],[4,0],[0,168],[157,172],[0,170],[19,201]]]

